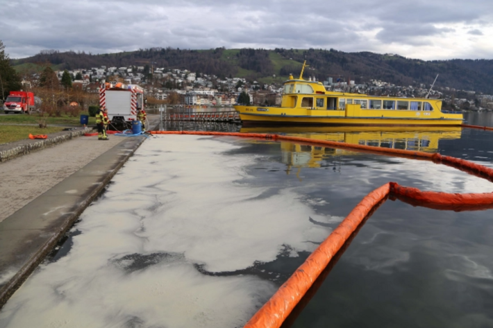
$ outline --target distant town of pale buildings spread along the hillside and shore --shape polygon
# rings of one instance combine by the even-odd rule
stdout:
[[[238,95],[246,92],[250,101],[256,105],[280,105],[285,78],[274,76],[272,83],[260,83],[245,78],[220,79],[215,75],[197,74],[187,69],[165,69],[157,67],[93,67],[68,71],[72,76],[72,87],[97,94],[101,83],[121,82],[140,85],[148,99],[149,106],[160,104],[187,106],[231,106],[237,102]],[[296,72],[293,72],[297,77]],[[56,71],[61,80],[64,71]],[[309,75],[309,72],[308,72]],[[29,87],[37,83],[38,74],[26,77],[22,83]],[[399,96],[408,98],[443,99],[444,107],[451,110],[483,111],[493,110],[493,95],[478,94],[474,91],[457,90],[449,87],[431,85],[394,85],[382,80],[369,80],[369,83],[356,84],[354,80],[344,78],[317,79],[304,76],[309,80],[323,83],[326,89],[335,92],[369,94],[374,96]]]

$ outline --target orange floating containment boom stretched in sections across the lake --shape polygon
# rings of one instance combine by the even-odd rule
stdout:
[[[465,128],[483,128],[477,126],[464,126]],[[313,140],[301,137],[289,137],[283,135],[265,135],[253,133],[230,133],[230,132],[203,132],[203,131],[151,131],[153,135],[226,135],[235,137],[249,137],[271,140],[287,140],[299,144],[312,146],[327,146],[330,148],[342,148],[358,150],[365,153],[376,153],[378,155],[406,157],[422,159],[444,164],[455,169],[465,171],[480,178],[493,181],[493,169],[483,165],[469,162],[456,157],[442,156],[438,153],[424,153],[412,150],[400,150],[393,148],[381,148],[356,144],[346,144],[338,141]],[[493,208],[493,193],[442,193],[435,191],[420,191],[416,188],[403,187],[396,182],[388,182],[383,186],[371,191],[361,202],[349,213],[344,221],[323,241],[319,247],[310,254],[308,259],[301,264],[293,275],[278,289],[278,291],[264,304],[262,308],[247,322],[245,328],[278,328],[306,294],[317,277],[328,266],[338,250],[350,238],[353,232],[369,217],[373,210],[385,202],[391,200],[402,200],[413,206],[423,206],[431,209],[474,211]]]

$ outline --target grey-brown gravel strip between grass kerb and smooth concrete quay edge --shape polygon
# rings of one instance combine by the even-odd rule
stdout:
[[[78,137],[58,146],[0,162],[0,222],[91,162],[124,137]]]

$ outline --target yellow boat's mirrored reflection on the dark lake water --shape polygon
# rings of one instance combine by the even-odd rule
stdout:
[[[272,133],[314,140],[343,141],[348,144],[436,152],[440,139],[460,139],[462,128],[446,127],[288,127],[242,128],[245,133]],[[318,167],[323,157],[358,154],[355,150],[325,148],[281,141],[283,163],[296,168]]]

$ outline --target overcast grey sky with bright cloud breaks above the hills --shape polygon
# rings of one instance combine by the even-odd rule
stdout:
[[[0,12],[10,58],[224,46],[493,59],[493,0],[0,0]]]

